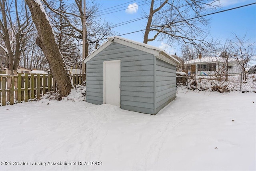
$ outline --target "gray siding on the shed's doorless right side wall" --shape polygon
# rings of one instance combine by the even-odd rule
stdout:
[[[156,113],[176,97],[176,66],[156,59]]]

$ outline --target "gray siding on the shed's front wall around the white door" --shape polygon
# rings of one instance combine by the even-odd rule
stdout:
[[[121,108],[154,114],[154,56],[112,43],[86,63],[87,101],[103,104],[103,62],[121,60]]]

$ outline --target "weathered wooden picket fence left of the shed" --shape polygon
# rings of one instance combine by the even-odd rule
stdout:
[[[74,85],[82,85],[83,76],[71,76]],[[14,104],[16,101],[40,99],[46,92],[56,92],[58,85],[52,74],[21,74],[10,76],[0,75],[0,102],[2,105]]]

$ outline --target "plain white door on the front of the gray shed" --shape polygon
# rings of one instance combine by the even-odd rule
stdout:
[[[103,103],[120,106],[121,61],[103,63]]]

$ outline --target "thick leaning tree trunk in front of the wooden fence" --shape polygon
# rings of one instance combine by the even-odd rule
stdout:
[[[52,26],[40,0],[26,0],[26,3],[30,8],[32,20],[39,35],[36,39],[36,44],[40,46],[48,60],[52,74],[57,82],[61,99],[70,93],[72,84],[62,54],[55,41]]]

